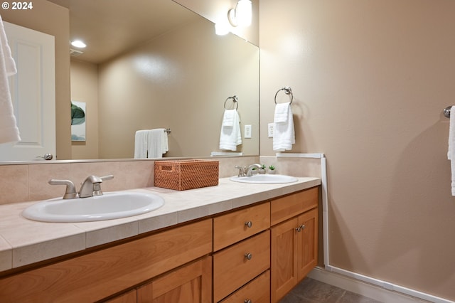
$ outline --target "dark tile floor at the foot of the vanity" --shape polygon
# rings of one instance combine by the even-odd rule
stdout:
[[[306,277],[280,303],[381,303]]]

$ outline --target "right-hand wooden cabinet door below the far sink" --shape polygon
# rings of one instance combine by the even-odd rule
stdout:
[[[318,263],[318,209],[299,216],[301,231],[298,241],[299,281],[302,280]]]

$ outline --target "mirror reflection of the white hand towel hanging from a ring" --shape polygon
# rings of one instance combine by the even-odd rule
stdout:
[[[220,149],[235,151],[242,144],[240,117],[237,110],[225,110],[220,132]]]

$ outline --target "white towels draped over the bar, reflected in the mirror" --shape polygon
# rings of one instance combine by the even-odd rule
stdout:
[[[169,150],[166,129],[142,129],[134,136],[134,158],[162,158]]]

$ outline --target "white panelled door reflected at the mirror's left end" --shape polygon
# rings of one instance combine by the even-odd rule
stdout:
[[[21,141],[0,144],[0,161],[55,155],[54,37],[4,22],[17,74],[9,78]]]

